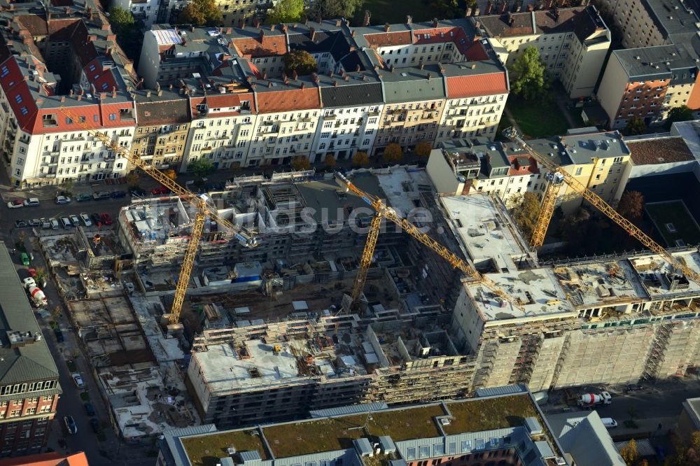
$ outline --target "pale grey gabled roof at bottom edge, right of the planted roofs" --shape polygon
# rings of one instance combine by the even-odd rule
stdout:
[[[559,437],[563,451],[570,453],[580,466],[624,466],[608,430],[596,411],[547,416],[552,432]]]

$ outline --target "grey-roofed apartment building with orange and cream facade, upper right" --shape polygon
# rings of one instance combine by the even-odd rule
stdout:
[[[673,107],[700,106],[698,71],[696,58],[676,45],[613,51],[598,88],[610,127],[623,128],[630,118],[653,125]]]

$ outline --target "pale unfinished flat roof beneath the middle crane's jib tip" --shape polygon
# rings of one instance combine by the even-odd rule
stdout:
[[[566,293],[556,280],[554,271],[549,267],[488,274],[488,278],[507,295],[519,299],[524,311],[510,302],[496,299],[493,292],[483,284],[465,282],[464,286],[474,297],[472,302],[486,322],[575,313],[574,307],[566,299]]]

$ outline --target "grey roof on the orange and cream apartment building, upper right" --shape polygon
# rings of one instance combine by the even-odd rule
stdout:
[[[651,80],[672,78],[690,79],[692,70],[696,69],[694,57],[685,48],[676,45],[657,45],[656,47],[630,48],[612,52],[619,60],[630,80]],[[680,76],[679,76],[680,73]],[[682,73],[687,73],[685,78]]]

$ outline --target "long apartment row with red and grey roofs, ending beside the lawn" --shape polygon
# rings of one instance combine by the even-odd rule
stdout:
[[[231,150],[222,149],[233,158],[219,167],[286,164],[292,157],[321,162],[327,155],[347,160],[358,151],[380,155],[392,142],[412,150],[455,132],[493,137],[507,72],[466,20],[414,24],[409,18],[356,29],[342,20],[255,26],[155,25],[144,37],[139,71],[146,87],[172,84],[200,99],[192,108],[214,108],[209,101],[221,93],[249,94],[252,127],[220,129],[233,138],[224,145]],[[316,73],[285,72],[288,50],[313,55]],[[221,144],[199,143],[195,138],[208,137],[197,133],[200,125],[209,122],[192,125],[189,158],[216,160]]]

